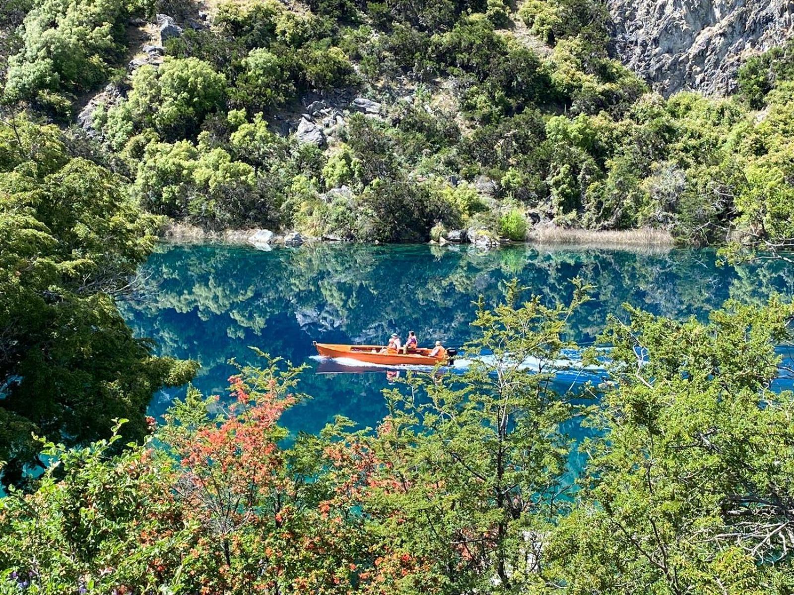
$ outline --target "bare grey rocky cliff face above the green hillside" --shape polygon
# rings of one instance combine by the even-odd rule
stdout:
[[[747,57],[792,36],[794,0],[607,0],[613,51],[654,90],[727,94]]]

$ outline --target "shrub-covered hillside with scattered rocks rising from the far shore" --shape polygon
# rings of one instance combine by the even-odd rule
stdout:
[[[791,48],[736,75],[787,35],[778,0],[18,1],[2,109],[71,126],[174,221],[483,246],[794,236]],[[729,99],[672,93],[734,80]]]

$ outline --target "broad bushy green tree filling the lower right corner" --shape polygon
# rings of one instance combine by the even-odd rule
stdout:
[[[708,323],[629,315],[603,337],[616,386],[546,580],[563,593],[788,593],[794,395],[769,382],[794,306],[729,302]]]

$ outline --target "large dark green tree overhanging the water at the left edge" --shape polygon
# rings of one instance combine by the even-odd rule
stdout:
[[[0,171],[0,459],[20,483],[38,463],[31,432],[75,445],[129,417],[140,439],[152,394],[195,367],[153,357],[118,313],[157,225],[125,183],[25,120],[0,126]]]

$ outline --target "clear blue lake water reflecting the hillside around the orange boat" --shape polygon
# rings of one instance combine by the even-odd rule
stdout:
[[[141,269],[141,290],[121,304],[137,336],[158,355],[202,364],[194,384],[225,394],[235,358],[248,346],[308,363],[300,389],[309,401],[287,412],[293,432],[318,432],[337,414],[372,426],[386,413],[383,370],[324,374],[312,340],[385,343],[391,332],[417,332],[420,344],[472,337],[473,301],[499,301],[501,282],[520,278],[549,301],[567,301],[569,279],[593,283],[593,301],[572,320],[572,338],[589,343],[624,302],[669,317],[707,317],[728,298],[762,302],[794,293],[794,267],[783,262],[719,267],[711,250],[625,251],[530,246],[482,252],[468,247],[318,244],[258,251],[214,244],[162,244]],[[338,370],[338,368],[337,368]],[[582,378],[584,379],[584,378]],[[561,378],[565,386],[578,382]],[[789,381],[781,381],[788,386]],[[156,395],[160,415],[183,389]]]

